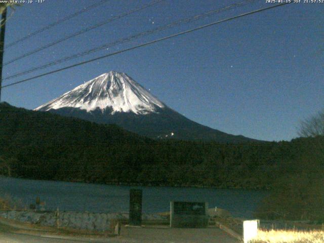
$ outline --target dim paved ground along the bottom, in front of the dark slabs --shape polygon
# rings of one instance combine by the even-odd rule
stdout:
[[[218,228],[179,229],[168,227],[121,228],[118,237],[103,240],[86,238],[58,239],[46,235],[29,235],[12,230],[8,226],[0,225],[0,243],[76,243],[76,242],[111,242],[111,243],[237,243]]]

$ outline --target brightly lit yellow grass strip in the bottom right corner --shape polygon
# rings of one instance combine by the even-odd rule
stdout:
[[[324,231],[259,230],[253,243],[323,243]]]

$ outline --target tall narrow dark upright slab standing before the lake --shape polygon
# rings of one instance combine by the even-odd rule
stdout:
[[[130,225],[142,225],[142,190],[130,190]]]

